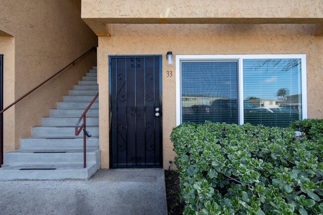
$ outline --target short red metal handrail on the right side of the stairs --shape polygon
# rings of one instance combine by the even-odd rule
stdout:
[[[94,101],[96,100],[96,98],[98,96],[99,96],[99,93],[96,93],[96,95],[94,96],[91,103],[87,106],[87,108],[85,109],[85,111],[81,115],[80,119],[75,124],[75,136],[79,136],[81,131],[83,130],[83,168],[86,167],[86,134],[85,134],[85,131],[86,131],[86,113],[91,108],[92,104],[94,103]],[[79,124],[80,124],[82,119],[83,119],[83,124],[81,125],[81,127],[79,129]]]

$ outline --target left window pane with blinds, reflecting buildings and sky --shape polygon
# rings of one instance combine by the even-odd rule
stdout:
[[[182,62],[182,122],[238,124],[238,61]]]

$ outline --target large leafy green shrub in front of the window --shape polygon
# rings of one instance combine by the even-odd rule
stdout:
[[[323,214],[323,144],[294,136],[250,124],[174,128],[183,214]]]

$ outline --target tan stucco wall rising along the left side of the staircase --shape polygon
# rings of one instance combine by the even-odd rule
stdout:
[[[4,70],[4,86],[10,88],[4,104],[20,98],[97,45],[97,37],[81,19],[81,0],[1,0],[0,31],[14,38],[10,51],[14,62]],[[0,43],[9,44],[2,38]],[[4,64],[8,63],[4,59]],[[16,104],[10,110],[14,122],[4,122],[4,137],[14,134],[14,141],[5,148],[18,148],[19,139],[30,136],[31,127],[40,125],[41,117],[48,116],[49,109],[56,108],[62,95],[94,65],[96,53],[92,52]]]

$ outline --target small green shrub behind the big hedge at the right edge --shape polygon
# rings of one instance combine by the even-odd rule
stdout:
[[[303,132],[308,140],[323,143],[323,119],[298,120],[291,123],[290,128]]]

